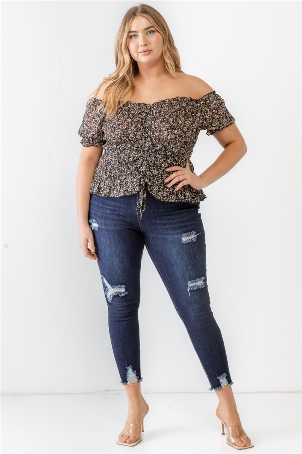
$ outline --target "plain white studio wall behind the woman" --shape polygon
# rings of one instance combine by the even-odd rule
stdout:
[[[301,2],[147,3],[248,146],[200,211],[233,390],[301,390]],[[75,185],[86,101],[134,5],[2,2],[2,394],[124,392],[99,270],[78,246]],[[195,171],[221,152],[201,131]],[[146,249],[141,288],[143,392],[210,392]]]

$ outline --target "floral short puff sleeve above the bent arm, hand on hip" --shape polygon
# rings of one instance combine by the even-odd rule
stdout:
[[[199,106],[200,130],[206,129],[206,135],[221,131],[225,126],[235,123],[235,118],[225,106],[224,99],[221,98],[216,90],[205,94],[200,99]]]

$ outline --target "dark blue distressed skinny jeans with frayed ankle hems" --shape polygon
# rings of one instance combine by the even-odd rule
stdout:
[[[233,385],[221,330],[206,280],[205,232],[200,202],[164,202],[146,188],[121,197],[91,194],[88,220],[108,306],[110,341],[120,384],[142,381],[138,309],[144,246],[183,321],[211,388]]]

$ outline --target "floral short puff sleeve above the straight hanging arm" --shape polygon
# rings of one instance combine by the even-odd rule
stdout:
[[[106,119],[104,105],[98,110],[101,104],[100,99],[91,98],[86,104],[85,114],[78,130],[78,135],[82,138],[83,147],[101,147],[106,143],[104,138],[103,125]]]

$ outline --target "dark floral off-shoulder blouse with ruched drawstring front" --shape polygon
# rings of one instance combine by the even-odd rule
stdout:
[[[196,175],[190,157],[199,132],[206,129],[211,135],[235,122],[216,90],[200,99],[177,96],[153,104],[126,101],[108,119],[105,106],[97,111],[101,99],[89,101],[78,135],[83,147],[103,147],[91,194],[120,197],[139,192],[141,218],[146,208],[145,183],[154,197],[167,202],[197,203],[206,198],[202,189],[189,184],[177,191],[178,183],[168,188],[164,180],[173,172],[165,169],[186,167],[188,161]]]

